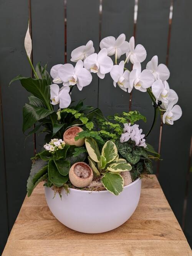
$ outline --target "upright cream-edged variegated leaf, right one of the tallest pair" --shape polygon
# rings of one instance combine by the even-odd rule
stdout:
[[[118,150],[115,143],[111,140],[108,140],[102,148],[101,155],[106,158],[106,163],[110,163],[115,160],[118,155]]]

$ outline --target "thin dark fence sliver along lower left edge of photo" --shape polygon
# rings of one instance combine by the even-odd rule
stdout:
[[[7,212],[7,192],[6,192],[6,176],[5,176],[5,155],[4,155],[4,141],[3,141],[3,113],[1,101],[1,88],[0,88],[0,254],[3,251],[8,237],[8,212]]]

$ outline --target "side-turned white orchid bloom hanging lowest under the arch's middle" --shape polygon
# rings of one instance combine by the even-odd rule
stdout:
[[[110,75],[113,79],[113,85],[116,87],[116,83],[123,90],[127,91],[129,87],[129,71],[124,71],[124,61],[121,61],[119,65],[114,65],[110,71]]]

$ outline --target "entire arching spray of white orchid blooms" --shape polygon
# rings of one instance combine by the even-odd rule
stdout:
[[[91,83],[91,73],[96,73],[100,79],[104,79],[105,74],[110,72],[114,87],[118,84],[119,88],[128,93],[131,93],[133,88],[141,92],[147,91],[154,105],[156,101],[155,107],[159,107],[160,111],[166,111],[164,123],[173,124],[173,121],[180,118],[181,108],[173,105],[177,103],[178,96],[167,83],[169,69],[164,64],[158,65],[157,56],[152,57],[146,69],[141,70],[141,62],[147,57],[146,49],[141,44],[135,45],[134,37],[131,37],[129,42],[126,41],[124,34],[119,35],[117,39],[113,36],[103,38],[100,48],[101,50],[95,53],[93,42],[89,40],[86,45],[81,45],[71,52],[71,61],[76,62],[75,67],[72,64],[58,64],[51,68],[51,104],[67,108],[71,103],[70,91],[73,86],[76,85],[81,91]],[[123,54],[126,55],[125,61],[118,64],[117,59]],[[113,55],[115,65],[109,57]],[[131,71],[124,66],[129,61],[133,64]],[[58,84],[61,83],[63,86],[60,88]]]

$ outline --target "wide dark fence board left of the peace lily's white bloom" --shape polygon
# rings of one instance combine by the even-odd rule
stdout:
[[[21,0],[3,1],[0,8],[1,37],[0,66],[3,104],[3,125],[5,139],[5,161],[8,184],[8,209],[10,228],[26,195],[26,180],[31,167],[33,138],[25,145],[22,133],[22,107],[28,93],[15,82],[8,87],[10,80],[22,74],[30,76],[30,66],[25,54],[24,38],[28,25],[28,2]],[[24,148],[25,145],[25,148]]]

